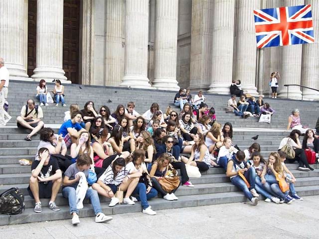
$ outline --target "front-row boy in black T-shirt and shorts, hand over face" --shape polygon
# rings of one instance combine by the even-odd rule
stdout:
[[[34,212],[41,213],[40,198],[50,198],[49,208],[60,211],[55,204],[55,198],[62,183],[62,172],[58,162],[50,158],[47,148],[39,149],[39,160],[33,161],[31,165],[30,185],[27,188],[29,195],[34,198]]]

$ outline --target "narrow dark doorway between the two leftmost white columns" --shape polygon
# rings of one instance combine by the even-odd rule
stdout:
[[[28,1],[28,63],[27,74],[33,75],[36,67],[36,0]]]

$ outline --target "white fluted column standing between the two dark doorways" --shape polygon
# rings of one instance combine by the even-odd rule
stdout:
[[[37,0],[36,24],[36,68],[32,78],[70,83],[62,69],[63,0]]]

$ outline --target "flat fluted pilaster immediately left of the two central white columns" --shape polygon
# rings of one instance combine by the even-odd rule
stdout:
[[[122,0],[106,2],[106,86],[121,84],[122,6]]]

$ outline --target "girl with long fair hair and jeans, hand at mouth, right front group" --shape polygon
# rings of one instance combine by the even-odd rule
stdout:
[[[286,178],[279,154],[271,152],[268,157],[268,163],[260,176],[261,182],[264,189],[270,194],[276,195],[281,202],[291,204],[293,198],[289,196],[289,190],[282,192],[279,188],[278,181],[276,180],[277,174],[279,177]]]

